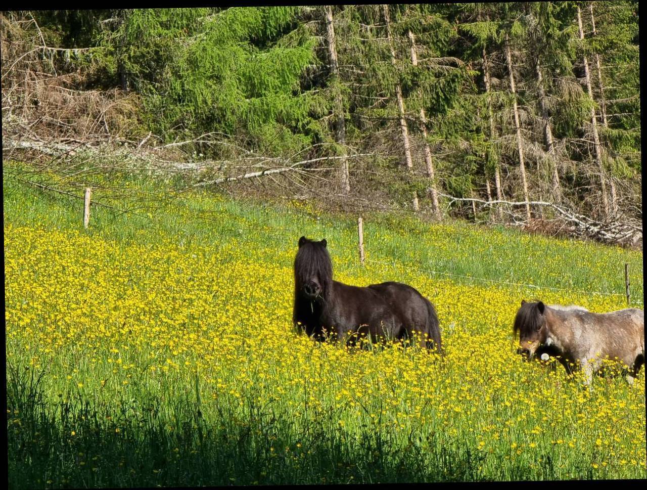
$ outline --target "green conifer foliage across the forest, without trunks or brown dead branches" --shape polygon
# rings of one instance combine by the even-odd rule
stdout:
[[[587,192],[599,191],[593,177],[580,170],[580,162],[591,160],[591,144],[585,140],[591,139],[591,109],[600,123],[608,171],[619,179],[638,175],[636,2],[411,4],[389,5],[388,12],[390,39],[381,5],[333,6],[336,76],[330,69],[320,6],[53,10],[34,12],[34,18],[44,42],[63,48],[39,54],[49,57],[52,69],[83,71],[88,88],[135,91],[142,101],[140,120],[166,141],[217,133],[237,148],[267,156],[292,155],[314,144],[315,157],[384,153],[379,172],[393,182],[389,192],[397,199],[416,190],[424,194],[428,183],[421,178],[422,146],[428,143],[441,169],[436,184],[468,195],[481,192],[495,170],[502,178],[507,170],[517,171],[507,168],[518,162],[511,142],[516,100],[525,147],[545,149],[543,128],[549,122],[558,148],[551,158],[560,172],[569,174],[563,183],[571,187],[565,189],[571,202],[584,203]],[[514,64],[514,97],[505,63],[506,38]],[[412,39],[417,65],[411,61]],[[82,47],[92,49],[79,51]],[[484,56],[490,62],[487,97]],[[584,56],[593,100],[584,84]],[[414,177],[400,168],[397,89],[414,148]],[[336,142],[340,112],[345,146]],[[527,153],[531,194],[533,189],[543,192],[547,160],[541,151]],[[505,178],[502,182],[514,186]],[[505,189],[505,194],[516,192]]]

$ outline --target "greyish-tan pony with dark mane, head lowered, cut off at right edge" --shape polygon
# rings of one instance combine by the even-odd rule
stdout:
[[[553,355],[567,373],[581,368],[591,383],[605,358],[629,370],[628,381],[638,374],[645,358],[644,313],[628,308],[612,313],[591,313],[581,306],[525,302],[514,318],[519,333],[518,353],[527,359]]]

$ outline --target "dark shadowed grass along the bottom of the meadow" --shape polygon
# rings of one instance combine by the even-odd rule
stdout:
[[[303,428],[258,406],[249,405],[242,419],[223,407],[214,424],[204,421],[195,400],[164,414],[153,400],[118,409],[80,395],[51,403],[42,379],[8,366],[10,489],[482,479],[474,452],[444,449],[438,441],[402,447],[388,430],[351,434],[324,414]]]

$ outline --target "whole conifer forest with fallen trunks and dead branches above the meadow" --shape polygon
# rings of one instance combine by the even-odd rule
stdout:
[[[76,169],[90,152],[185,186],[635,245],[638,16],[633,1],[5,12],[3,157]]]

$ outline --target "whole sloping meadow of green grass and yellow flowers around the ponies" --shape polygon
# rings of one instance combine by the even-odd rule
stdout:
[[[641,252],[369,215],[362,267],[356,217],[128,179],[137,209],[95,206],[85,230],[82,200],[7,169],[12,489],[647,476],[644,368],[589,391],[512,338],[522,298],[625,307],[625,262],[642,308]],[[429,298],[444,359],[298,335],[302,235],[327,239],[336,280]]]

